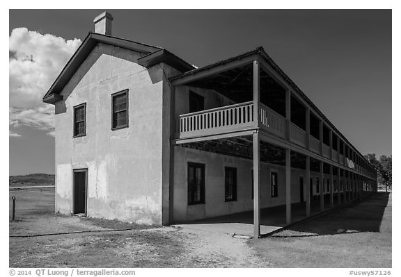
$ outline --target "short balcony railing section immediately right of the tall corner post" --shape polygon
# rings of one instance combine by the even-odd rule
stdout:
[[[285,137],[285,117],[279,115],[274,110],[267,108],[262,103],[259,104],[259,118],[262,127],[267,131],[272,132],[279,137]]]

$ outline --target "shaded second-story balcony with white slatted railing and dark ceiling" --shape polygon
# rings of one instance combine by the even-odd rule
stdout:
[[[301,153],[307,153],[303,148],[346,165],[345,154],[352,156],[353,150],[345,149],[345,140],[322,113],[304,95],[285,87],[263,59],[244,57],[172,78],[175,143],[243,137],[260,130]]]

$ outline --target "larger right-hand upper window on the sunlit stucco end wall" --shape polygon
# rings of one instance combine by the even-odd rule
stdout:
[[[111,128],[119,129],[128,127],[128,90],[111,95],[112,120]]]

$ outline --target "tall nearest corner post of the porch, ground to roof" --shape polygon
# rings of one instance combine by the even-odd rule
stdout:
[[[253,61],[253,124],[259,127],[260,65]],[[253,133],[253,235],[260,236],[260,137]]]

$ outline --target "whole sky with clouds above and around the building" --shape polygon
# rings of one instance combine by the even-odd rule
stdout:
[[[54,174],[50,85],[104,10],[9,11],[9,174]],[[361,153],[391,155],[391,10],[107,10],[203,67],[262,46]]]

